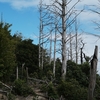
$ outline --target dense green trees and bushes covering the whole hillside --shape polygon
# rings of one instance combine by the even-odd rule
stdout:
[[[21,80],[26,78],[26,67],[28,67],[30,77],[43,79],[48,82],[48,84],[43,84],[42,90],[47,92],[50,98],[56,99],[62,95],[67,100],[87,99],[90,70],[88,61],[83,64],[67,61],[66,81],[62,81],[62,62],[57,58],[54,78],[52,73],[53,61],[49,64],[50,58],[46,49],[41,48],[44,51],[44,67],[41,69],[38,67],[38,45],[33,44],[31,39],[22,39],[21,33],[16,33],[12,36],[10,27],[11,25],[8,23],[0,23],[0,81],[12,83],[16,77],[16,66],[18,66],[20,79],[14,81],[13,93],[23,96],[35,94],[27,86],[26,82]],[[23,64],[25,65],[22,73]],[[0,88],[3,88],[2,84],[0,84]],[[96,100],[100,99],[99,93],[100,75],[97,74],[94,93]],[[13,99],[14,96],[9,94],[9,100]]]

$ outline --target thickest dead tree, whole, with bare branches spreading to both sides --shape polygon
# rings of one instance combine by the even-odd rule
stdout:
[[[57,33],[61,35],[61,57],[62,57],[62,79],[65,80],[66,76],[66,69],[67,69],[67,29],[75,22],[76,17],[83,11],[83,10],[76,10],[75,6],[80,2],[77,0],[72,6],[68,7],[68,5],[72,2],[72,0],[51,0],[52,3],[50,5],[45,5],[45,8],[48,12],[50,12],[50,20],[48,25],[55,24],[54,23],[54,16],[57,16]],[[76,13],[76,15],[75,15]],[[49,17],[50,17],[49,16]],[[45,20],[48,20],[47,17]],[[53,19],[52,19],[53,18]],[[48,21],[46,21],[48,22]]]

